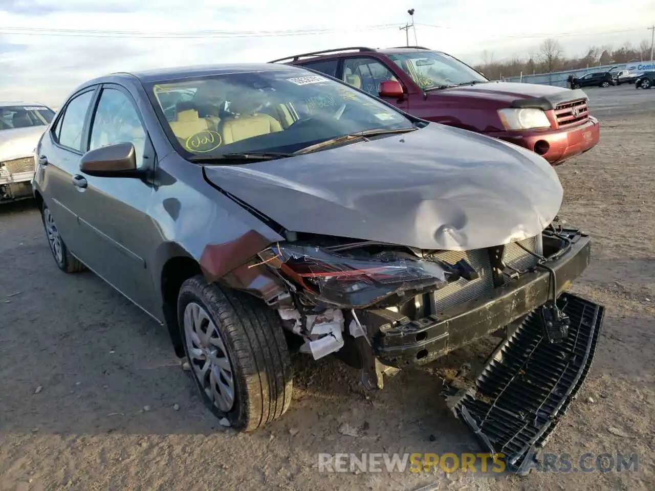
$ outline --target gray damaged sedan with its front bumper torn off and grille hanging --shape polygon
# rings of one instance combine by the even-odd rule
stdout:
[[[557,221],[550,164],[510,143],[301,67],[223,65],[86,82],[37,157],[57,266],[165,325],[238,429],[288,409],[291,355],[336,355],[373,390],[495,333],[443,395],[519,469],[589,369],[603,307],[562,293],[589,237]]]

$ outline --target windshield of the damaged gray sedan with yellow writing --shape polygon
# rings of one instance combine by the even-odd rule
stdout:
[[[147,90],[186,158],[292,153],[357,132],[413,127],[377,99],[297,68],[158,82]]]

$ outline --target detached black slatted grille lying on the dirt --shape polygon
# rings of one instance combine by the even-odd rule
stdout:
[[[557,304],[571,319],[567,340],[550,344],[534,310],[491,356],[475,391],[443,394],[485,451],[503,454],[518,474],[537,465],[535,448],[545,445],[580,390],[603,323],[605,308],[589,300],[562,293]]]

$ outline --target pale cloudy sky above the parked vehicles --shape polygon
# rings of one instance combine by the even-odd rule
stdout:
[[[404,45],[405,33],[398,25],[410,20],[409,8],[415,9],[419,45],[450,52],[470,64],[481,61],[483,50],[493,52],[495,59],[525,57],[551,34],[567,54],[582,53],[589,45],[638,45],[643,39],[650,43],[646,27],[655,23],[654,0],[0,0],[0,100],[58,106],[77,84],[112,71],[266,62],[339,46]],[[369,27],[388,24],[392,26]],[[12,33],[7,28],[13,28]],[[30,34],[18,34],[16,28]],[[43,28],[141,31],[151,37],[35,35],[33,29]],[[307,29],[332,30],[270,35]],[[269,35],[161,37],[197,36],[199,31]],[[413,31],[410,40],[413,44]]]

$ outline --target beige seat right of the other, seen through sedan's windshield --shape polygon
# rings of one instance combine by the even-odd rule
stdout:
[[[221,119],[218,125],[223,144],[282,131],[282,125],[276,118],[265,113],[257,113],[261,107],[259,101],[249,98],[231,101],[230,110],[235,116]]]

